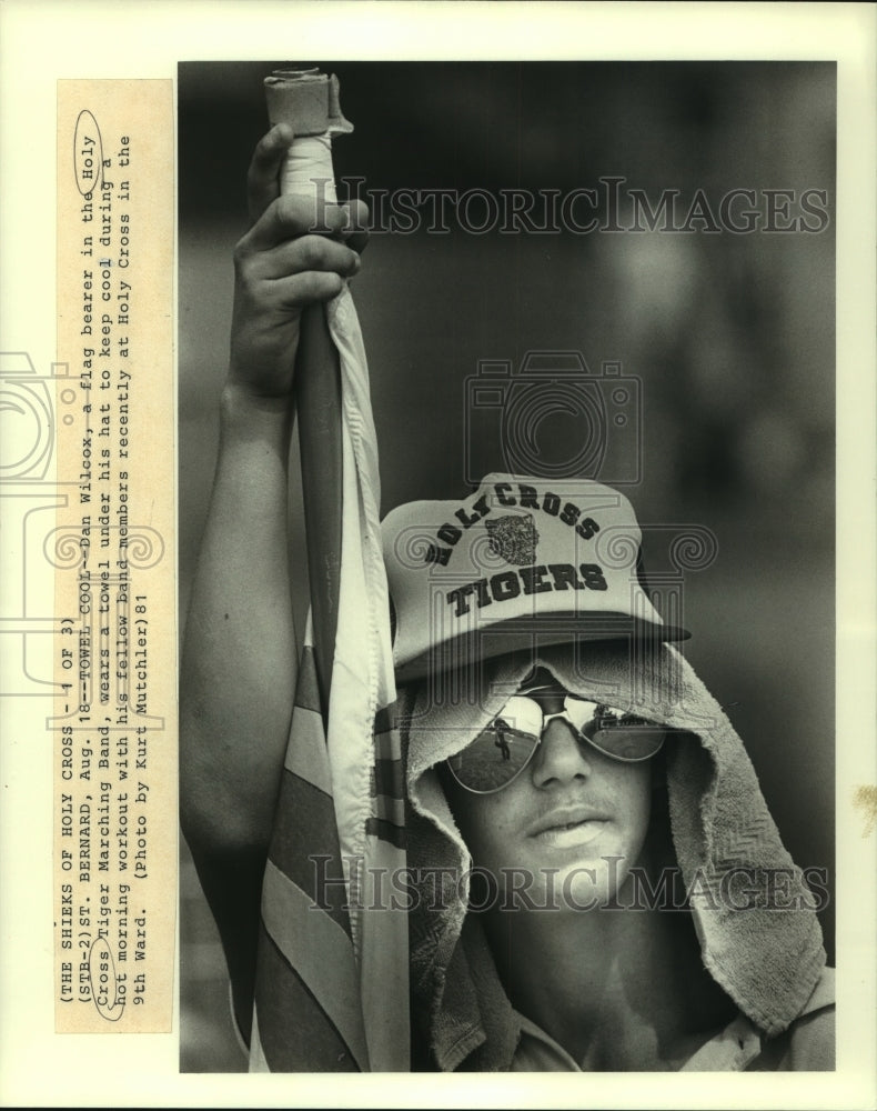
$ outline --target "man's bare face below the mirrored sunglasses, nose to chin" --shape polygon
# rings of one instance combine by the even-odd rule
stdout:
[[[563,709],[563,695],[555,684],[536,697],[550,714]],[[651,761],[613,760],[555,718],[507,787],[473,794],[453,783],[447,793],[474,865],[495,877],[501,892],[524,892],[522,905],[528,895],[535,905],[587,909],[616,894],[639,860],[651,812]]]

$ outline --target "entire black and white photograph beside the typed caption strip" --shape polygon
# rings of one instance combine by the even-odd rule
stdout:
[[[834,1069],[836,67],[178,96],[181,1068]]]

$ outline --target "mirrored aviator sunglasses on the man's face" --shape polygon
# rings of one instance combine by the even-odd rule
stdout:
[[[513,695],[471,744],[447,760],[457,783],[474,794],[494,794],[508,787],[530,763],[555,718],[563,718],[579,742],[611,760],[639,763],[661,751],[665,727],[565,692],[563,710],[546,713],[533,695],[553,691],[561,693],[546,684]]]

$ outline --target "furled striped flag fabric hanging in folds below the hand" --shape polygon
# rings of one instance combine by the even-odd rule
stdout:
[[[329,721],[305,634],[269,860],[251,1071],[409,1070],[405,865],[377,443],[353,299],[326,307],[339,350],[343,520]],[[401,873],[396,873],[401,874]]]

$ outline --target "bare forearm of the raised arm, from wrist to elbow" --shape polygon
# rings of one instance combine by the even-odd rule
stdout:
[[[195,859],[264,852],[295,689],[289,404],[226,387],[183,645],[181,815]]]

